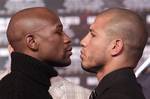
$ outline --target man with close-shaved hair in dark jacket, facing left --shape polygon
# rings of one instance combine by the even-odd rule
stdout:
[[[133,11],[111,8],[98,14],[81,41],[82,67],[99,80],[90,99],[145,99],[133,69],[147,36],[145,22]]]

